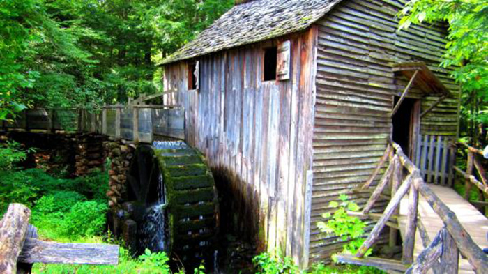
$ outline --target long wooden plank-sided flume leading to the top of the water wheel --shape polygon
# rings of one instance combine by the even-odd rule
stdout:
[[[167,105],[109,105],[102,109],[29,109],[4,130],[96,132],[151,143],[154,135],[185,138],[185,109]]]

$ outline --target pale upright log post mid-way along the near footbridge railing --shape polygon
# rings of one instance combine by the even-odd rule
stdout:
[[[415,181],[422,180],[415,178]],[[415,229],[417,228],[418,190],[415,185],[410,186],[409,211],[407,213],[405,237],[403,242],[402,262],[413,263],[413,251],[415,249]]]

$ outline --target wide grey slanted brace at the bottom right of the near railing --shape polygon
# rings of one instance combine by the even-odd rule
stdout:
[[[441,229],[436,236],[434,237],[434,240],[432,240],[432,243],[430,243],[425,250],[422,250],[420,254],[417,257],[417,261],[415,261],[415,264],[413,264],[407,271],[405,271],[405,274],[413,274],[413,273],[427,273],[427,271],[436,264],[436,261],[441,257],[442,250],[443,250],[443,244],[442,244],[442,231],[444,229]]]

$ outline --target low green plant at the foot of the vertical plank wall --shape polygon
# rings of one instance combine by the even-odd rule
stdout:
[[[278,252],[279,253],[279,252]],[[263,252],[252,259],[252,263],[257,268],[259,274],[280,274],[296,273],[298,266],[293,264],[289,257],[282,257],[280,254],[270,254]]]

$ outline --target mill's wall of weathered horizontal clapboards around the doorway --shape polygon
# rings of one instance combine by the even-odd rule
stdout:
[[[434,24],[397,31],[395,15],[402,6],[393,0],[343,1],[317,23],[311,261],[329,259],[342,248],[339,239],[317,229],[321,214],[330,211],[329,201],[345,193],[362,205],[369,197],[351,189],[372,174],[392,132],[392,98],[407,83],[392,72],[394,63],[424,61],[452,92],[422,119],[421,134],[457,134],[459,91],[448,71],[438,67],[445,28]],[[410,97],[420,96],[413,89]],[[423,97],[422,111],[435,100]]]

